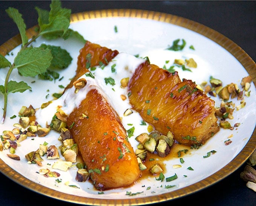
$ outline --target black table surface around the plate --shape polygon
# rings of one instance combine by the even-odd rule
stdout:
[[[49,1],[0,1],[0,45],[18,34],[5,9],[14,7],[23,15],[27,28],[37,24],[34,7],[49,10]],[[165,12],[196,21],[223,34],[238,44],[256,61],[255,1],[62,1],[72,13],[99,9],[143,9]],[[246,164],[246,163],[245,163]],[[245,164],[214,185],[170,204],[248,205],[256,206],[256,193],[240,178]],[[1,165],[0,165],[1,167]],[[254,167],[255,168],[255,167]],[[75,205],[38,194],[18,185],[0,173],[0,205]]]

